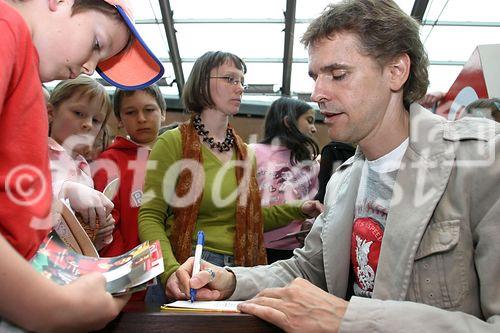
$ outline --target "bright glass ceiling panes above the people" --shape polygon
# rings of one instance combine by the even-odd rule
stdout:
[[[335,0],[334,0],[335,1]],[[415,0],[396,0],[407,13]],[[416,0],[422,1],[422,0]],[[167,95],[177,95],[174,66],[160,9],[162,0],[134,0],[137,28],[165,65]],[[163,0],[164,3],[167,1]],[[307,52],[299,40],[308,23],[332,0],[296,0],[290,91],[309,94]],[[265,84],[266,93],[245,94],[247,101],[274,99],[283,80],[284,12],[287,0],[170,0],[184,78],[193,62],[208,50],[224,50],[248,65],[250,85]],[[431,61],[429,91],[448,91],[474,48],[499,43],[500,1],[429,0],[421,39]]]

